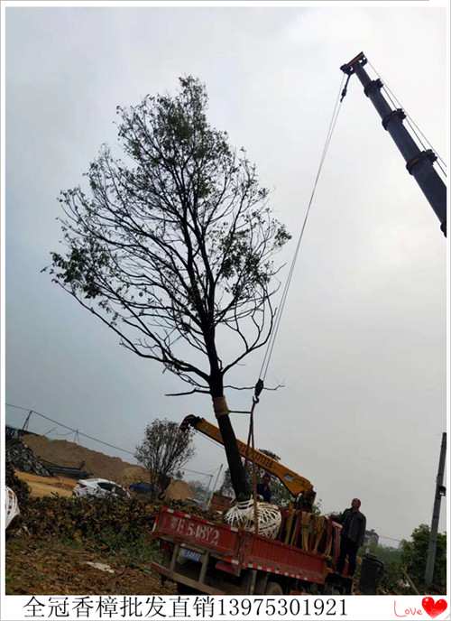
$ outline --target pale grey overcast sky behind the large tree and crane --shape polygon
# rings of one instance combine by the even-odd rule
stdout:
[[[446,159],[443,8],[6,9],[7,402],[127,450],[155,417],[212,421],[207,397],[164,397],[177,380],[120,348],[40,273],[59,247],[56,198],[101,144],[116,144],[116,105],[174,92],[192,74],[207,85],[209,120],[247,149],[296,237],[339,67],[362,50]],[[445,292],[437,218],[352,79],[267,377],[285,388],[263,393],[256,444],[308,477],[325,512],[359,496],[368,527],[395,539],[430,522],[446,428]],[[253,384],[261,362],[249,358],[238,381]],[[233,409],[250,398],[228,394]],[[11,408],[6,417],[23,422]],[[245,417],[233,421],[244,438]],[[226,462],[207,440],[196,446],[189,468]]]

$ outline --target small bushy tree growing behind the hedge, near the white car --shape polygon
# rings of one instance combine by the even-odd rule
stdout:
[[[149,470],[153,496],[160,496],[180,468],[194,456],[194,430],[180,431],[177,422],[155,419],[147,425],[135,458]]]

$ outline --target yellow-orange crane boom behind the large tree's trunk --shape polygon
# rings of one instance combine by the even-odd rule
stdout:
[[[188,426],[193,427],[208,438],[216,440],[219,444],[224,445],[221,431],[211,422],[206,421],[205,418],[191,414],[184,418],[180,424],[182,430],[186,429]],[[241,457],[245,458],[247,453],[249,461],[253,461],[256,466],[264,468],[273,477],[277,477],[293,496],[299,496],[299,494],[305,494],[306,492],[313,492],[313,486],[307,478],[300,477],[299,474],[283,466],[279,461],[265,455],[261,450],[252,450],[251,447],[248,447],[247,444],[244,444],[241,440],[236,440],[236,444]]]

